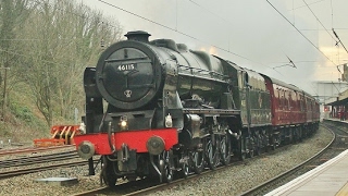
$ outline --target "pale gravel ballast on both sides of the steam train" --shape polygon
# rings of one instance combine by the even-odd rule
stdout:
[[[195,182],[185,182],[170,189],[158,192],[156,195],[239,195],[307,160],[326,146],[331,139],[332,134],[320,127],[311,138],[291,145],[288,150],[246,160],[245,164],[234,166],[228,170],[213,172],[210,175],[202,175]],[[96,173],[99,172],[100,167],[97,168]],[[4,179],[0,181],[0,195],[73,195],[100,187],[99,175],[87,176],[87,174],[88,167],[85,166]],[[42,177],[77,177],[78,183],[70,186],[57,186],[35,182],[35,180]]]

